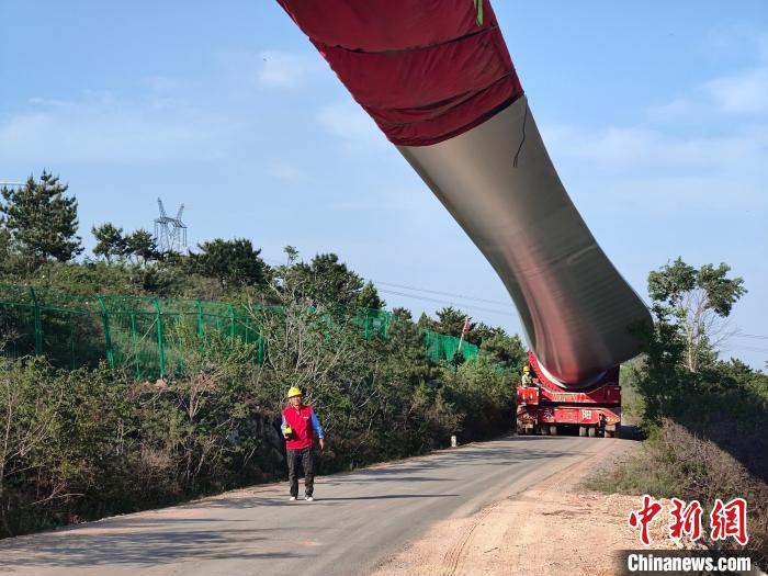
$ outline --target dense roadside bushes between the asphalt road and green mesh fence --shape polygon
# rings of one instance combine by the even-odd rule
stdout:
[[[262,314],[255,308],[255,316]],[[421,330],[396,319],[362,337],[353,310],[286,303],[253,345],[167,335],[180,366],[136,383],[105,365],[66,370],[0,359],[0,535],[161,506],[283,475],[276,426],[298,385],[319,415],[325,473],[477,440],[511,428],[509,372],[487,358],[433,363]]]

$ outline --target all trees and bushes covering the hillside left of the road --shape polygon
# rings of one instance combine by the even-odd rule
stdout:
[[[92,228],[93,256],[83,256],[77,202],[57,178],[43,173],[2,197],[0,535],[282,477],[278,425],[294,385],[326,428],[324,473],[444,447],[452,434],[488,438],[513,423],[524,359],[517,336],[477,324],[467,336],[482,347],[476,358],[430,357],[425,330],[461,334],[466,315],[451,307],[418,320],[396,308],[385,335],[365,334],[360,312],[385,303],[336,255],[304,261],[286,247],[285,263],[270,267],[242,238],[161,253],[146,230],[106,223]],[[181,368],[137,377],[144,372],[129,361],[110,368],[99,323],[74,332],[77,315],[37,318],[18,306],[25,285],[54,301],[80,295],[82,306],[97,306],[95,295],[236,304],[263,348],[226,329],[201,339],[183,323],[163,325]],[[153,337],[153,325],[145,328]]]

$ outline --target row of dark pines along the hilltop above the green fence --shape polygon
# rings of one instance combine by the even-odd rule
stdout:
[[[280,302],[280,290],[273,289],[282,274],[296,286],[295,296],[310,306],[386,306],[375,285],[335,253],[318,253],[304,261],[293,246],[286,246],[285,264],[270,267],[247,238],[214,238],[185,253],[161,252],[148,230],[125,231],[106,222],[91,227],[93,253],[83,257],[77,199],[68,194],[68,185],[59,177],[43,171],[39,179],[30,177],[22,188],[3,188],[0,194],[0,280],[9,283],[31,281],[81,295],[134,294],[270,305]],[[393,312],[410,317],[405,308]],[[434,318],[422,315],[417,321],[423,329],[458,337],[466,316],[447,306],[437,310]],[[466,339],[494,349],[507,363],[517,350],[517,342],[512,346],[512,337],[502,328],[484,323],[472,323]]]

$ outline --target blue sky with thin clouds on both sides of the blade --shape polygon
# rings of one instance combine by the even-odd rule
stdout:
[[[494,2],[561,178],[644,297],[677,256],[731,264],[749,293],[724,354],[763,366],[768,3],[585,5]],[[93,224],[151,229],[161,196],[187,205],[193,242],[248,237],[272,263],[289,244],[334,251],[421,298],[383,292],[389,306],[453,302],[519,331],[494,271],[275,2],[0,0],[0,181],[60,174],[87,246]]]

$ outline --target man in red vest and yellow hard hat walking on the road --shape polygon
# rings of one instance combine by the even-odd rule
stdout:
[[[291,500],[298,497],[298,461],[304,468],[304,499],[313,501],[312,494],[315,484],[315,437],[320,441],[320,450],[326,447],[323,427],[312,406],[302,403],[302,391],[296,386],[287,393],[291,403],[283,410],[283,423],[281,430],[285,438],[289,461],[289,481],[291,482]]]

